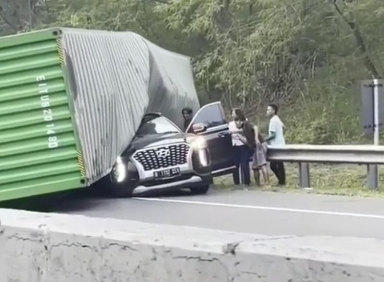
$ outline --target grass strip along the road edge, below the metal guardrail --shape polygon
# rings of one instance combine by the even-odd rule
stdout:
[[[277,183],[276,177],[269,170],[271,184]],[[285,187],[254,187],[258,191],[273,191],[280,193],[299,192],[322,195],[359,196],[384,198],[384,167],[379,167],[380,183],[377,191],[370,191],[366,187],[366,166],[359,165],[310,165],[310,186],[312,190],[302,190],[298,186],[297,164],[285,164]],[[217,189],[231,189],[233,181],[231,175],[215,180]]]

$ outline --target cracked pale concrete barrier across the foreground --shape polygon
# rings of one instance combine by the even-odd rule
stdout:
[[[384,242],[0,209],[0,282],[384,281]],[[249,223],[244,223],[249,224]]]

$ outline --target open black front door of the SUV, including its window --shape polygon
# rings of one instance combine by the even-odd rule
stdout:
[[[205,130],[197,135],[205,138],[211,158],[212,176],[232,173],[233,165],[232,139],[228,123],[220,102],[201,107],[193,116],[186,132],[193,133],[193,125],[203,124]]]

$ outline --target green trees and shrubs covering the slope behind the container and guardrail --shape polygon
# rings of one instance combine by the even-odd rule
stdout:
[[[134,31],[192,56],[203,103],[220,99],[253,119],[273,101],[288,142],[364,142],[356,86],[384,73],[382,0],[32,0],[30,9],[18,1],[0,0],[1,34]]]

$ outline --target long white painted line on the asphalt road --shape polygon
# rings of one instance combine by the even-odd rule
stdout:
[[[177,203],[177,204],[189,204],[189,205],[215,206],[215,207],[225,207],[225,208],[240,208],[240,209],[266,210],[266,211],[291,212],[291,213],[384,219],[384,215],[355,214],[355,213],[344,213],[344,212],[303,210],[303,209],[291,209],[291,208],[279,208],[279,207],[267,207],[267,206],[237,205],[237,204],[185,201],[185,200],[161,199],[161,198],[134,197],[132,199],[140,200],[140,201],[149,201],[149,202],[164,202],[164,203]]]

